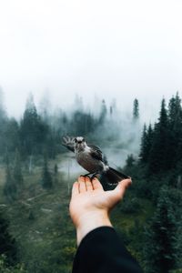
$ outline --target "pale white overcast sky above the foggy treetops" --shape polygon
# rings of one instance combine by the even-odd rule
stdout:
[[[0,86],[10,115],[27,94],[55,105],[75,93],[135,97],[153,115],[163,96],[182,95],[182,1],[0,0]],[[149,113],[149,114],[148,114]]]

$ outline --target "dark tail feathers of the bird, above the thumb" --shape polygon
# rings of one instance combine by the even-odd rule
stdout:
[[[109,185],[116,185],[119,181],[130,178],[112,167],[109,167],[106,172],[102,174],[102,177]]]

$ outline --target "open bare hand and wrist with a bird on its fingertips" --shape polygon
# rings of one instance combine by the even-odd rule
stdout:
[[[72,188],[69,206],[76,226],[77,245],[94,228],[112,227],[109,212],[124,197],[130,184],[131,179],[125,179],[114,190],[104,191],[96,177],[92,180],[90,177],[78,177]]]

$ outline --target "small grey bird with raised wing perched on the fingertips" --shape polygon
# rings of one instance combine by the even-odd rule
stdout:
[[[101,177],[108,185],[117,185],[123,179],[131,178],[109,167],[106,155],[99,147],[86,143],[83,136],[63,136],[62,145],[75,153],[77,163],[86,169],[88,173],[84,176]]]

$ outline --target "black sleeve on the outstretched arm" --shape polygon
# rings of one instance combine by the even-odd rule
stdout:
[[[113,227],[89,232],[76,252],[72,273],[142,273]]]

